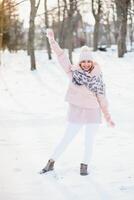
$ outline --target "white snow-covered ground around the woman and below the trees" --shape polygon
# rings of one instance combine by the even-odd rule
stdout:
[[[78,50],[77,50],[78,51]],[[78,52],[75,51],[74,58]],[[134,53],[94,53],[102,65],[114,129],[101,125],[90,175],[79,175],[83,152],[80,133],[60,157],[55,171],[46,164],[66,125],[68,80],[54,56],[36,52],[36,72],[26,52],[5,52],[0,66],[0,199],[134,199]]]

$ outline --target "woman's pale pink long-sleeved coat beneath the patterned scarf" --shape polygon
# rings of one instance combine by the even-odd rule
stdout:
[[[78,66],[73,66],[65,54],[63,49],[61,49],[58,43],[54,39],[49,38],[49,42],[52,50],[57,55],[60,65],[63,67],[64,71],[70,79],[69,87],[66,94],[66,101],[71,105],[78,106],[83,109],[96,109],[100,108],[104,114],[106,121],[111,120],[110,113],[108,111],[108,103],[106,96],[98,95],[96,96],[93,92],[90,92],[84,85],[79,87],[72,83],[72,71],[74,68],[79,68]],[[79,68],[79,70],[81,70]],[[90,73],[90,75],[99,75],[101,72],[98,64],[95,63],[95,67]]]

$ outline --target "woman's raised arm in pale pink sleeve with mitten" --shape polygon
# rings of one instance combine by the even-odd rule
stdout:
[[[54,32],[52,29],[47,29],[47,37],[51,46],[51,49],[57,55],[57,59],[60,65],[63,67],[64,71],[70,76],[72,64],[65,54],[64,50],[60,48],[59,44],[55,41]]]

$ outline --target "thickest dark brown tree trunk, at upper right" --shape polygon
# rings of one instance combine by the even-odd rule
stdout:
[[[127,15],[130,0],[115,0],[117,9],[118,24],[118,57],[123,57],[126,53],[126,35],[127,35]]]

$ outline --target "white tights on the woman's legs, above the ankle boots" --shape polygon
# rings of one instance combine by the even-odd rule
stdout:
[[[84,148],[84,155],[83,155],[83,163],[89,164],[92,156],[93,144],[95,140],[95,136],[97,130],[99,128],[99,124],[75,124],[75,123],[68,123],[65,134],[61,139],[60,143],[55,148],[53,154],[50,156],[53,160],[57,160],[59,156],[66,150],[67,146],[73,138],[78,134],[80,129],[84,126],[84,134],[85,134],[85,148]]]

